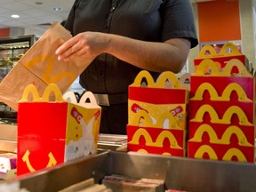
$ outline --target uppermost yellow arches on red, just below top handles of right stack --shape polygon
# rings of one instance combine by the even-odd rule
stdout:
[[[244,92],[244,89],[241,87],[241,85],[236,83],[228,84],[228,86],[222,92],[221,96],[218,95],[216,89],[212,86],[212,84],[209,84],[209,83],[200,84],[200,86],[196,90],[195,96],[190,100],[203,100],[203,95],[205,91],[208,91],[210,93],[211,100],[229,101],[231,92],[235,91],[236,94],[238,95],[239,101],[252,101],[248,99],[246,92]]]

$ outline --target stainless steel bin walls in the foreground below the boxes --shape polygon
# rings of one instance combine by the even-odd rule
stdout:
[[[21,188],[31,192],[51,192],[89,178],[100,183],[105,175],[111,174],[164,180],[166,188],[191,192],[256,191],[255,164],[120,151],[105,151],[59,164],[18,181]]]

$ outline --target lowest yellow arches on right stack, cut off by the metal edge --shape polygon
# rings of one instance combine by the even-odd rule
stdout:
[[[211,146],[203,145],[198,148],[195,157],[203,158],[204,154],[208,154],[210,159],[218,160],[218,156]],[[247,162],[243,152],[238,148],[229,148],[225,155],[222,157],[222,160],[231,161],[233,156],[236,156],[239,162]]]

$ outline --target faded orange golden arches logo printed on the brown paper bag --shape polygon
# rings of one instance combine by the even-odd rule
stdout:
[[[47,62],[44,75],[41,77],[46,84],[56,84],[60,79],[67,77],[69,79],[69,83],[71,84],[75,79],[76,76],[71,71],[66,71],[59,73],[55,76],[52,76],[52,71],[54,67],[54,59],[49,55],[42,55],[35,57],[32,60],[29,60],[27,63],[24,64],[24,66],[28,69],[33,68],[40,62]],[[68,81],[68,80],[65,80]]]

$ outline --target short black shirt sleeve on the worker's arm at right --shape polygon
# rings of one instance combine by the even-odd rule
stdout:
[[[198,44],[195,16],[189,0],[165,0],[162,7],[162,41],[188,38],[191,48]]]

